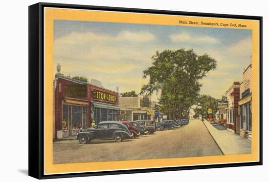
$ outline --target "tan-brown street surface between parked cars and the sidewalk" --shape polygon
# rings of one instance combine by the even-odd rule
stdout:
[[[199,120],[175,130],[114,142],[96,140],[90,144],[61,141],[53,144],[53,163],[122,161],[222,155],[208,130]]]

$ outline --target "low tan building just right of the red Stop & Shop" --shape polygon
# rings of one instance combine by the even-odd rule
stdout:
[[[153,120],[155,110],[147,97],[120,97],[119,119],[121,121]]]

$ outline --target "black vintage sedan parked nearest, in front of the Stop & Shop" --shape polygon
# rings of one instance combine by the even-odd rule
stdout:
[[[86,144],[94,139],[114,139],[116,142],[121,142],[132,136],[127,126],[120,121],[102,121],[94,128],[82,129],[77,134],[77,139],[81,144]]]

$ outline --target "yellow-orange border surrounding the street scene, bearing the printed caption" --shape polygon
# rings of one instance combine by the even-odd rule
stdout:
[[[113,161],[113,162],[82,162],[82,163],[65,163],[53,164],[53,20],[85,20],[85,21],[106,21],[106,22],[125,22],[125,23],[143,23],[159,25],[180,25],[180,26],[201,26],[191,24],[179,24],[179,20],[185,21],[205,21],[219,23],[218,28],[239,28],[224,27],[220,23],[246,24],[247,27],[241,29],[252,30],[252,70],[253,70],[253,90],[252,90],[252,153],[244,155],[226,155],[226,156],[205,156],[205,157],[188,157],[188,158],[169,158],[169,159],[150,159],[150,160],[133,160],[133,161]],[[92,172],[108,171],[120,169],[141,169],[201,164],[220,164],[234,162],[254,162],[259,161],[259,21],[258,20],[240,20],[226,18],[205,18],[192,16],[175,16],[175,15],[157,15],[142,13],[124,13],[112,11],[93,11],[93,10],[76,10],[61,8],[44,9],[44,40],[45,40],[45,136],[44,136],[44,174],[58,173],[75,173],[75,172]],[[243,76],[243,73],[242,73]]]

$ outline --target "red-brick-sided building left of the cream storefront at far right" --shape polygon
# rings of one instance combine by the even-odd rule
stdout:
[[[228,101],[228,108],[226,108],[226,127],[227,130],[237,134],[240,133],[240,122],[238,114],[239,94],[240,82],[233,82],[233,84],[225,93],[225,97]]]

